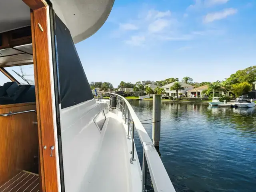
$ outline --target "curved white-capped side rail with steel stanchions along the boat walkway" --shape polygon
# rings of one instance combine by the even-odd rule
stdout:
[[[134,112],[132,106],[130,103],[124,98],[123,96],[120,96],[115,93],[109,93],[109,92],[101,92],[101,93],[108,93],[112,95],[116,95],[119,97],[119,111],[120,106],[122,106],[122,110],[124,110],[123,102],[121,105],[120,100],[122,99],[126,106],[125,108],[128,108],[128,136],[130,131],[130,116],[132,117],[133,122],[133,128],[132,128],[132,139],[134,138],[134,126],[138,132],[138,136],[140,138],[140,142],[143,147],[143,163],[142,163],[142,192],[146,192],[146,168],[148,167],[148,170],[150,172],[152,184],[154,187],[155,192],[175,192],[175,189],[172,185],[172,182],[170,180],[170,177],[168,176],[166,169],[164,168],[164,164],[156,151],[156,148],[154,147],[154,144],[152,143],[152,140],[150,139],[148,133],[146,132],[144,126],[140,122],[138,116]],[[126,113],[126,111],[125,111]],[[122,116],[124,116],[124,112],[122,111]],[[126,121],[126,118],[124,119]],[[134,142],[132,142],[134,145]],[[132,146],[132,154],[134,153],[134,146]],[[134,156],[132,156],[134,158]],[[132,159],[131,158],[131,159]],[[134,160],[134,159],[133,159]],[[132,161],[131,161],[132,163]]]

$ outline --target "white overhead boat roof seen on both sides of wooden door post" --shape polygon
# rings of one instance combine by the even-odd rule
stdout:
[[[74,43],[96,33],[104,24],[114,0],[47,0],[70,30]],[[15,14],[10,14],[10,10]],[[1,1],[0,33],[30,26],[30,8],[22,0]]]

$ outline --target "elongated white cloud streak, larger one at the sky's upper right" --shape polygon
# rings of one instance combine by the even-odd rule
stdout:
[[[224,9],[219,12],[208,13],[206,16],[204,16],[203,22],[210,23],[215,20],[221,20],[221,19],[226,18],[229,15],[236,14],[236,12],[237,12],[237,9],[228,8],[228,9]]]

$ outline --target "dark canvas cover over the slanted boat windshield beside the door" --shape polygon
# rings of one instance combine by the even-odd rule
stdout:
[[[61,108],[93,98],[70,31],[55,14],[56,60]]]

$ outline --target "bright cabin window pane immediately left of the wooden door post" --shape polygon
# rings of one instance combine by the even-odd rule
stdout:
[[[5,67],[5,69],[21,84],[35,85],[33,64]]]

